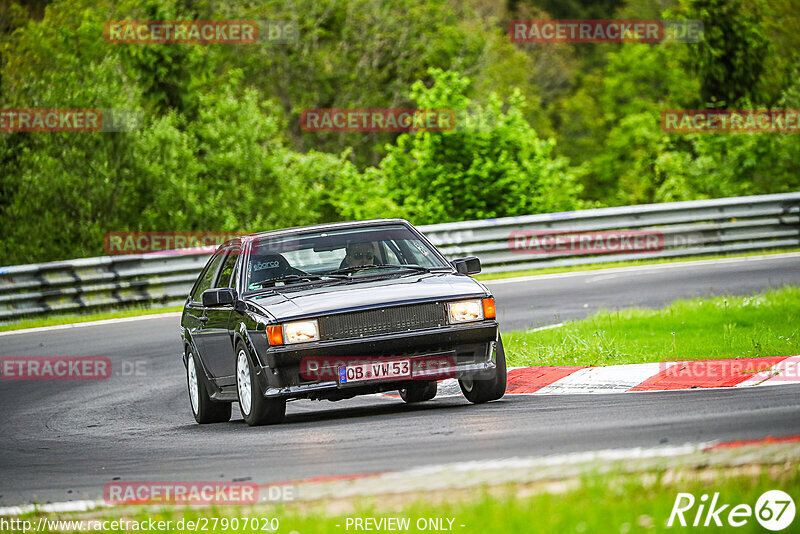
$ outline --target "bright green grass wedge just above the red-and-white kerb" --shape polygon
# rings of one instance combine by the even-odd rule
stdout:
[[[540,332],[503,335],[509,365],[614,365],[800,354],[800,288],[600,311]]]

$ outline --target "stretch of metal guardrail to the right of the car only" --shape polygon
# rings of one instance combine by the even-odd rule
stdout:
[[[645,204],[423,226],[447,257],[474,255],[484,272],[519,271],[800,246],[800,193]],[[621,254],[530,255],[512,250],[512,232],[657,233],[660,250]]]

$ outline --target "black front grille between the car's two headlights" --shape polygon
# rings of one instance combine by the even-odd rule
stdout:
[[[319,330],[321,339],[332,340],[408,332],[445,324],[444,303],[430,302],[327,315],[320,318]]]

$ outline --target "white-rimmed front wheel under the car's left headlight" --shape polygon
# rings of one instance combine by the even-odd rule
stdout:
[[[253,360],[241,343],[236,346],[236,392],[239,410],[248,425],[274,425],[283,421],[286,399],[268,399],[261,394]]]

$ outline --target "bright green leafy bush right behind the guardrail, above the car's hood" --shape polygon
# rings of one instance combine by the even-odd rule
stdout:
[[[375,172],[386,180],[400,212],[417,223],[486,219],[574,209],[579,188],[566,160],[552,156],[555,141],[539,139],[522,114],[521,95],[507,109],[496,95],[485,106],[464,96],[467,78],[437,69],[434,83],[417,82],[420,109],[453,109],[487,120],[453,132],[403,134]]]

